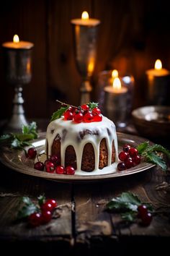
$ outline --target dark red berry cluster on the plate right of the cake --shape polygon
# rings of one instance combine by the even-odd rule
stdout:
[[[124,171],[133,166],[137,166],[140,163],[140,155],[138,154],[138,150],[130,147],[130,145],[124,145],[118,156],[121,161],[117,164],[117,169],[119,171]]]

